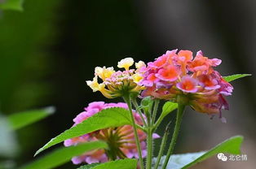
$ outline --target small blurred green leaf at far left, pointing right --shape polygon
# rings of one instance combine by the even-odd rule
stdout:
[[[49,115],[52,115],[55,112],[54,107],[47,107],[41,110],[35,111],[24,111],[20,113],[15,113],[8,116],[8,120],[11,124],[11,128],[16,130],[23,128],[29,124],[33,124],[40,119],[44,119]]]

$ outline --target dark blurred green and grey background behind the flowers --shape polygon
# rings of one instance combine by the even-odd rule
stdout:
[[[44,106],[57,111],[18,131],[17,166],[32,161],[46,141],[70,128],[89,102],[110,102],[86,86],[96,66],[117,67],[127,56],[148,62],[178,48],[221,58],[218,71],[223,76],[256,74],[254,0],[25,0],[23,6],[24,11],[0,13],[0,111],[10,115]],[[241,134],[248,161],[211,158],[196,168],[256,166],[256,80],[252,76],[232,85],[233,96],[227,98],[231,110],[223,113],[227,124],[188,110],[175,153],[207,150]],[[111,102],[117,101],[121,100]],[[76,167],[68,163],[60,168]]]

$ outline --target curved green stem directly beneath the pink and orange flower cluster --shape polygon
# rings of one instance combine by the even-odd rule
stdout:
[[[184,109],[185,109],[185,105],[179,104],[178,112],[177,112],[177,115],[176,115],[176,123],[175,123],[175,127],[174,127],[174,133],[173,133],[173,136],[171,138],[170,146],[169,146],[169,149],[168,149],[167,154],[166,154],[166,160],[165,160],[165,163],[164,163],[162,169],[166,169],[167,164],[168,164],[169,159],[170,159],[170,155],[172,154],[172,152],[174,150],[174,145],[176,143],[176,140],[177,140],[177,137],[178,137],[178,134],[179,134],[179,127],[180,127],[181,120],[182,120],[182,117],[183,117]]]

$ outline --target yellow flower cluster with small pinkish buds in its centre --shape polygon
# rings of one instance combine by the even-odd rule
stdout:
[[[140,61],[135,63],[135,69],[129,69],[135,63],[133,58],[124,58],[118,62],[117,67],[125,68],[125,71],[115,72],[113,67],[95,67],[95,77],[87,80],[87,85],[94,92],[101,92],[106,98],[122,97],[128,93],[139,93],[143,86],[138,85],[142,79],[140,68],[145,64]],[[102,83],[99,83],[102,81]]]

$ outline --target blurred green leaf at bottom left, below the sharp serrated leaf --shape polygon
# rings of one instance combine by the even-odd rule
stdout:
[[[20,167],[20,169],[48,169],[58,167],[68,162],[74,156],[84,154],[90,150],[106,149],[107,147],[108,145],[103,141],[86,142],[81,145],[64,147],[42,158],[38,158],[38,160],[29,163],[27,166]]]

